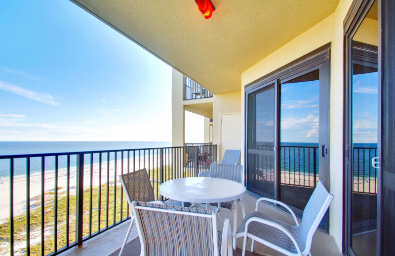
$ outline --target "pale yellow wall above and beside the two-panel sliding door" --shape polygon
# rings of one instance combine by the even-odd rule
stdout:
[[[241,75],[241,109],[244,109],[244,86],[303,55],[331,43],[330,70],[330,192],[335,195],[330,206],[329,234],[342,248],[343,237],[343,21],[352,0],[340,0],[336,11],[308,31],[277,49]],[[244,112],[240,122],[244,123]],[[241,128],[242,137],[244,129]],[[244,142],[241,142],[242,162]]]

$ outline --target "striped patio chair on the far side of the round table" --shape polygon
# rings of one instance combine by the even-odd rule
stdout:
[[[235,165],[235,164],[212,163],[210,168],[210,177],[232,180],[244,184],[243,166]],[[244,218],[245,207],[242,198],[239,198],[237,200],[237,203],[241,205],[241,210]],[[212,203],[211,205],[218,205],[218,204]],[[218,205],[218,207],[220,206]],[[233,212],[233,232],[235,233],[237,229],[237,207],[235,205],[235,201],[222,202],[221,208],[225,208]]]

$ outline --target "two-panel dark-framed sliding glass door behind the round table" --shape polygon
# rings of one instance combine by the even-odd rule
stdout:
[[[300,217],[317,182],[329,183],[328,53],[246,88],[247,189]]]

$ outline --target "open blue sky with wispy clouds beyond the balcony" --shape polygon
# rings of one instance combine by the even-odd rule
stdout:
[[[171,67],[67,0],[0,3],[0,141],[171,140]]]

